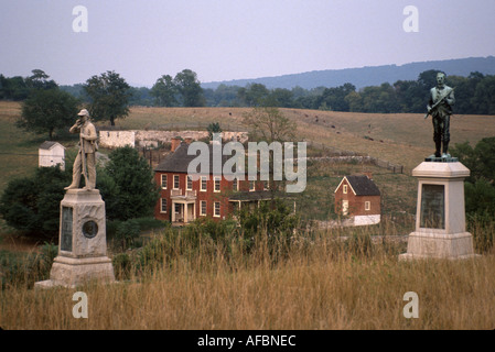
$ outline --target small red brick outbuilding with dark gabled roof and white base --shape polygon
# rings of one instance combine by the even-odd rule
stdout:
[[[335,189],[335,212],[355,226],[380,222],[380,191],[367,175],[344,176]]]

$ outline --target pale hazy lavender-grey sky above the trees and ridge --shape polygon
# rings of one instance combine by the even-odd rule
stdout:
[[[494,15],[494,0],[0,0],[0,74],[151,87],[184,68],[207,82],[488,56]]]

